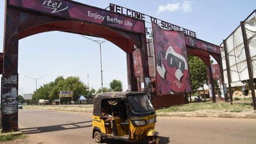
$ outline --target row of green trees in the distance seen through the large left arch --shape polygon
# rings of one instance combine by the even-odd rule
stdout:
[[[95,91],[94,88],[90,88],[88,85],[85,85],[78,76],[69,76],[68,78],[58,76],[55,81],[50,82],[49,84],[44,84],[34,91],[32,100],[27,102],[36,104],[36,101],[40,99],[50,100],[50,102],[52,102],[55,99],[59,99],[60,91],[72,91],[73,101],[76,101],[79,99],[80,95],[83,95],[85,98],[92,99],[93,95],[101,93],[101,88]],[[110,88],[103,87],[103,92],[109,91],[123,91],[122,82],[114,79],[110,82]],[[23,103],[23,98],[19,97],[19,99],[19,102]],[[71,101],[71,98],[61,98],[61,101],[68,102]]]

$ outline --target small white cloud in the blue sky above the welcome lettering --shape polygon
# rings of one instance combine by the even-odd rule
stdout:
[[[167,5],[159,5],[158,10],[156,11],[157,14],[164,11],[178,11],[178,9],[183,9],[183,12],[187,13],[191,11],[191,4],[193,4],[193,1],[183,1],[182,4],[180,2],[177,3],[169,3]]]

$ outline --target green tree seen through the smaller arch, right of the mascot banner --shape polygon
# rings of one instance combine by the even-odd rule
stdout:
[[[191,88],[197,91],[204,84],[207,84],[207,68],[204,62],[196,56],[188,55],[188,65],[190,70]]]

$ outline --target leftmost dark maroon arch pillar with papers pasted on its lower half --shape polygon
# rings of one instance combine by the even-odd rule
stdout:
[[[1,91],[2,132],[18,131],[18,40],[19,10],[6,9],[4,69]],[[7,28],[8,25],[8,28]]]

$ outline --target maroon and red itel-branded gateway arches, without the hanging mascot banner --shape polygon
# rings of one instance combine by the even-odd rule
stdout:
[[[6,0],[1,95],[2,132],[18,130],[18,41],[20,39],[46,31],[102,37],[127,53],[129,90],[147,91],[149,81],[155,78],[149,71],[152,61],[149,62],[148,59],[152,55],[149,55],[151,52],[148,51],[152,44],[146,40],[145,29],[143,20],[70,0]],[[209,73],[210,55],[221,65],[220,53],[204,50],[191,43],[192,39],[201,43],[201,40],[196,38],[185,37],[187,52],[190,55],[200,56],[209,64]],[[212,76],[209,77],[212,80]],[[183,94],[156,95],[152,97],[152,101],[155,107],[165,107],[171,104],[183,104],[183,97]]]

